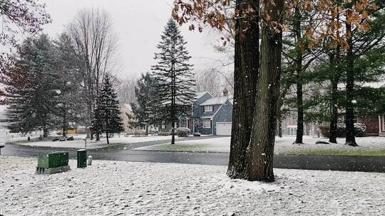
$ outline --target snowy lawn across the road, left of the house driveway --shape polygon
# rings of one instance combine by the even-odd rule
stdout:
[[[14,144],[24,145],[24,146],[42,146],[42,147],[59,147],[59,148],[84,148],[84,140],[86,135],[68,135],[73,136],[75,140],[73,141],[26,141],[18,140],[13,142]],[[58,136],[60,138],[60,136]],[[107,144],[106,138],[103,137],[101,141],[87,140],[87,148],[105,148],[108,146],[116,146],[119,144],[134,144],[147,141],[158,141],[158,140],[167,140],[171,139],[171,136],[123,136],[118,135],[110,138],[110,144]],[[179,139],[177,137],[177,139]]]

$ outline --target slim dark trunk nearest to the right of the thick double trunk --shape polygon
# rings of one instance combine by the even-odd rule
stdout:
[[[298,8],[295,9],[294,31],[297,38],[297,56],[296,56],[296,82],[297,82],[297,137],[296,144],[302,144],[302,136],[304,136],[304,104],[302,99],[302,50],[299,48],[299,42],[302,41],[301,34],[301,13]]]

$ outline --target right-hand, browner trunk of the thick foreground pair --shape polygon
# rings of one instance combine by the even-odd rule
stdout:
[[[282,23],[284,1],[265,0],[265,13],[270,21]],[[247,179],[274,181],[273,156],[277,129],[277,105],[281,76],[282,31],[269,25],[262,27],[261,63],[255,113],[247,158]]]

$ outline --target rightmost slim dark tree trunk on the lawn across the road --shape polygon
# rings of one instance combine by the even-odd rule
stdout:
[[[347,23],[347,43],[349,48],[347,50],[347,104],[345,123],[347,125],[346,144],[349,146],[357,146],[354,137],[354,55],[353,55],[353,41],[351,24]]]

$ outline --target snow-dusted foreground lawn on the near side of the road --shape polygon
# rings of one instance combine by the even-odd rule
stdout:
[[[275,183],[230,180],[225,166],[93,161],[34,173],[0,156],[0,215],[385,215],[385,173],[275,169]]]

